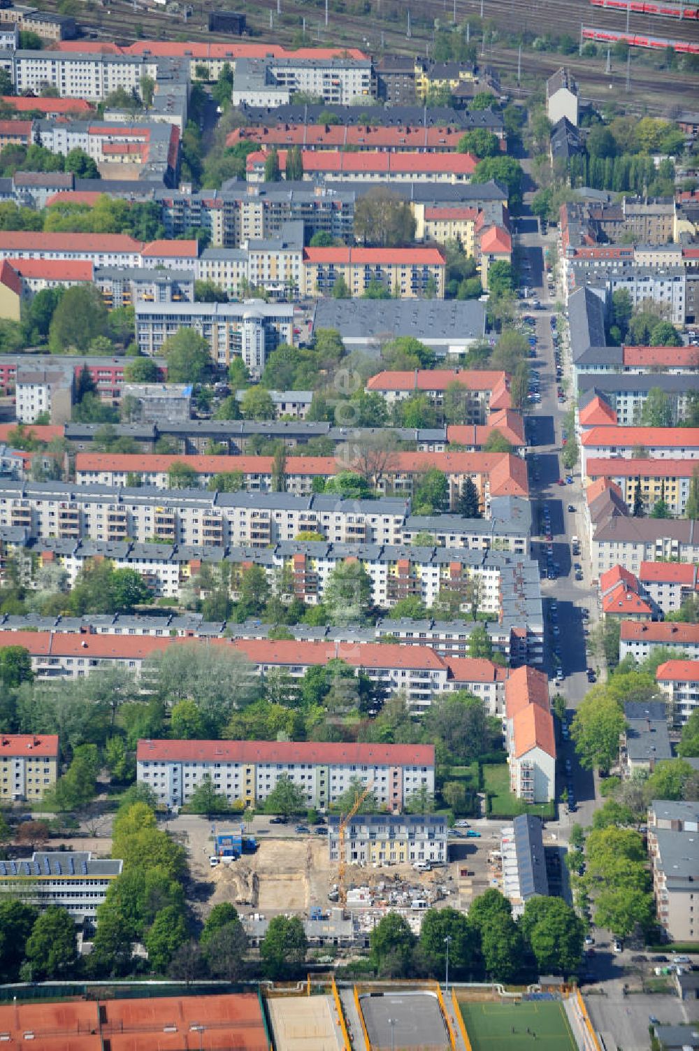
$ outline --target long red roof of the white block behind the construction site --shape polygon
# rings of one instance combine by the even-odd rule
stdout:
[[[355,763],[433,766],[433,744],[354,744],[323,741],[139,741],[139,762],[220,759],[222,762]]]

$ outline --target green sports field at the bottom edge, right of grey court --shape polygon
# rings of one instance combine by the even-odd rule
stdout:
[[[459,1001],[458,1006],[473,1051],[578,1051],[559,1001],[517,1005]]]

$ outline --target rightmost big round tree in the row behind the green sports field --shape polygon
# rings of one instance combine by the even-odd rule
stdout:
[[[582,960],[584,924],[562,898],[530,898],[519,927],[539,974],[573,974]]]

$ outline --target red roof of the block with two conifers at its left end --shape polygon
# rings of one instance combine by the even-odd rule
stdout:
[[[286,165],[285,149],[280,149],[280,168]],[[383,150],[361,150],[357,153],[342,153],[334,150],[302,149],[304,171],[376,171],[384,174],[441,174],[472,176],[478,163],[471,153],[387,153]],[[264,164],[265,150],[248,153],[246,168],[253,171]]]

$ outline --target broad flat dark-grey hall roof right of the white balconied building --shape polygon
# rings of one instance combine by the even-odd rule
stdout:
[[[411,335],[428,345],[477,339],[486,333],[485,304],[477,300],[320,300],[314,328],[336,329],[344,339],[386,332]]]

